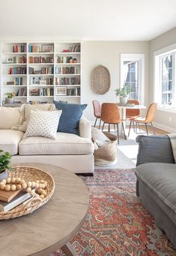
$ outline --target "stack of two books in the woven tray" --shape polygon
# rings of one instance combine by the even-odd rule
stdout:
[[[31,197],[30,193],[23,190],[0,190],[0,211],[7,212]]]

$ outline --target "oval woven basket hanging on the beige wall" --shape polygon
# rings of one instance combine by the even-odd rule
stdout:
[[[94,93],[105,94],[109,91],[111,78],[109,70],[99,65],[91,72],[91,89]]]

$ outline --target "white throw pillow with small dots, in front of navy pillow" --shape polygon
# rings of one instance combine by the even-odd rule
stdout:
[[[26,137],[42,136],[50,139],[56,138],[58,122],[61,117],[59,111],[33,111],[28,121],[28,126],[23,139]]]

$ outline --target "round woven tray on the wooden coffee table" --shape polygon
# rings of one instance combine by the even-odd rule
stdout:
[[[52,176],[49,175],[47,172],[28,166],[15,167],[13,169],[14,172],[9,172],[8,177],[19,177],[21,179],[24,179],[25,181],[37,181],[41,179],[47,181],[47,187],[45,189],[46,197],[44,199],[32,197],[8,212],[0,212],[0,220],[16,218],[34,212],[36,209],[40,208],[49,201],[55,190],[55,181]]]

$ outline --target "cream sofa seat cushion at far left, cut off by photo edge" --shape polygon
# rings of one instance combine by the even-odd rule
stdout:
[[[23,133],[14,130],[0,130],[0,149],[11,155],[18,154],[18,145]]]

